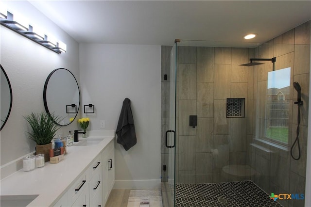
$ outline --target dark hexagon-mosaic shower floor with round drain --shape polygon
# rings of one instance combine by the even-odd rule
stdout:
[[[176,184],[176,207],[282,207],[252,181]]]

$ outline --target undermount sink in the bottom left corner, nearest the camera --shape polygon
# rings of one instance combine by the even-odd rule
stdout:
[[[1,195],[1,207],[25,207],[30,204],[38,195]]]

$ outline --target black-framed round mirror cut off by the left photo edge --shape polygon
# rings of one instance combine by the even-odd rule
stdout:
[[[0,86],[1,86],[1,128],[0,130],[4,127],[6,121],[9,118],[11,109],[12,109],[12,88],[11,88],[11,84],[10,84],[10,80],[8,78],[8,76],[6,75],[2,65],[1,66],[1,82],[0,82]]]

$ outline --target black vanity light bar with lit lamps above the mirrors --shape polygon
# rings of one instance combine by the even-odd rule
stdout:
[[[17,21],[13,20],[13,14],[10,12],[7,12],[7,16],[0,13],[0,21],[1,25],[13,30],[14,32],[17,32],[21,34],[24,37],[27,37],[28,39],[33,40],[34,42],[38,43],[39,45],[51,49],[52,51],[60,54],[62,52],[66,52],[66,44],[62,42],[56,42],[52,43],[48,40],[48,36],[44,35],[44,37],[40,36],[39,34],[33,32],[33,27],[31,25],[28,26],[28,28],[24,27]]]

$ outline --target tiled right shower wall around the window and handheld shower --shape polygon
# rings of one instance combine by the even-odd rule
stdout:
[[[260,140],[265,131],[265,100],[267,73],[272,70],[271,64],[254,66],[254,93],[249,93],[248,115],[253,111],[255,123],[247,140],[247,164],[256,174],[252,180],[268,194],[304,193],[306,182],[307,131],[309,114],[309,77],[310,77],[310,21],[283,33],[273,40],[255,49],[255,57],[276,57],[275,70],[291,67],[290,111],[289,111],[289,146],[279,147]],[[297,93],[293,82],[301,86],[300,147],[301,158],[294,160],[290,155],[290,146],[296,138],[298,106],[294,104]],[[256,116],[255,116],[256,114]],[[251,135],[252,134],[252,135]],[[255,143],[263,148],[253,147]],[[294,148],[297,157],[297,148]],[[307,195],[308,196],[308,195]],[[284,207],[304,207],[304,200],[279,200]]]

